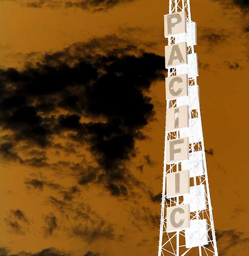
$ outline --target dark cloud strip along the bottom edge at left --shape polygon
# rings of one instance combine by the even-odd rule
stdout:
[[[31,253],[22,251],[18,254],[10,254],[10,250],[7,247],[0,247],[0,255],[1,256],[70,256],[71,254],[67,254],[65,252],[60,252],[55,248],[47,248],[40,252]],[[93,252],[88,251],[84,256],[99,256],[98,253],[94,254]]]

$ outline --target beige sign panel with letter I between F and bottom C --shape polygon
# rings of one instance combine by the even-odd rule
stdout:
[[[179,171],[166,175],[167,197],[180,196],[189,193],[189,171]]]

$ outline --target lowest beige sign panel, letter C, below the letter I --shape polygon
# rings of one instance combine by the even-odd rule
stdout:
[[[190,226],[189,205],[167,207],[167,232],[182,230]]]

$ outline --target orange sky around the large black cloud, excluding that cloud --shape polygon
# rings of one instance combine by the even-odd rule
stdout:
[[[246,19],[248,13],[232,1],[227,2],[230,3],[227,9],[219,1],[211,0],[190,0],[190,5],[192,19],[197,22],[195,51],[199,61],[205,148],[214,151],[213,156],[207,154],[206,157],[213,219],[219,237],[218,251],[222,256],[244,256],[248,251],[249,231],[246,164],[249,63],[248,32],[244,31],[246,20],[243,17]],[[163,55],[163,14],[167,13],[168,3],[161,0],[136,0],[107,12],[94,13],[80,8],[27,8],[19,2],[1,1],[0,66],[21,69],[25,61],[37,61],[42,54],[62,50],[73,43],[97,37],[104,45],[104,37],[112,34],[146,51]],[[1,160],[1,247],[8,247],[12,254],[55,247],[76,256],[88,251],[100,256],[157,255],[161,205],[151,200],[149,191],[153,195],[161,192],[165,123],[163,81],[154,83],[147,94],[152,97],[156,115],[144,128],[149,139],[136,141],[137,156],[127,163],[134,176],[133,194],[129,197],[111,196],[96,183],[78,185],[80,192],[76,192],[73,201],[64,204],[60,211],[51,204],[50,196],[62,198],[63,191],[77,185],[75,177],[67,175],[63,166],[52,170],[46,166],[35,168]],[[67,141],[64,138],[58,142]],[[24,149],[19,150],[23,156],[26,154]],[[86,146],[77,151],[86,155],[86,162],[94,164]],[[50,163],[77,160],[73,154],[57,156],[54,149],[49,149],[47,154]],[[147,155],[151,162],[144,157]],[[136,166],[142,164],[143,172],[140,172]],[[27,188],[25,181],[28,179],[43,179],[61,187],[59,190],[47,185],[43,189]],[[140,181],[139,186],[135,180]],[[11,213],[13,209],[20,209],[27,220]],[[76,218],[78,209],[87,213],[89,219]],[[46,227],[53,215],[57,226],[48,234]],[[10,221],[17,221],[21,229],[13,231],[8,225]],[[92,239],[87,231],[83,235],[71,235],[71,227],[78,224],[102,230],[103,235]]]

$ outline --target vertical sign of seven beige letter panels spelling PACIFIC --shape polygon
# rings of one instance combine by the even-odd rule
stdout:
[[[164,15],[165,36],[186,33],[186,14],[184,11]],[[165,46],[165,67],[187,64],[186,42]],[[188,75],[167,77],[166,98],[188,96]],[[188,105],[167,109],[166,131],[179,130],[189,126]],[[189,159],[188,137],[166,141],[166,163],[177,163]],[[166,176],[167,197],[189,193],[189,171],[178,171]],[[167,232],[182,230],[190,226],[190,205],[167,207]]]

